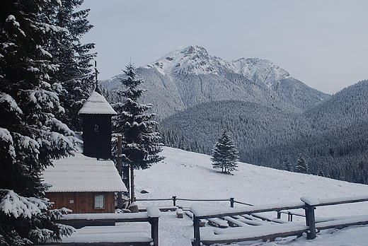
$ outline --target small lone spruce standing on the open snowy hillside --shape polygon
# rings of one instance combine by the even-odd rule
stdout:
[[[234,144],[233,139],[224,130],[214,145],[212,151],[212,165],[215,169],[220,169],[222,173],[231,174],[231,171],[236,170],[238,165],[236,162],[239,159],[238,150]]]

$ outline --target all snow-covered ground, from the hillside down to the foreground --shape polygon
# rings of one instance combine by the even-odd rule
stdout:
[[[137,199],[229,199],[248,204],[275,204],[315,199],[352,197],[368,194],[367,185],[352,184],[324,177],[304,175],[239,163],[234,175],[224,175],[212,168],[210,156],[164,148],[166,159],[147,170],[135,171]],[[146,190],[147,194],[139,193]],[[139,201],[139,207],[171,206],[172,201]],[[229,206],[229,201],[177,201],[178,206]],[[236,206],[243,206],[236,204]],[[368,202],[318,207],[316,216],[368,214]],[[286,216],[286,215],[284,215]],[[284,217],[283,217],[284,218]],[[294,217],[295,218],[295,217]],[[287,218],[285,218],[287,219]],[[301,218],[304,221],[304,218]],[[149,225],[144,225],[149,226]],[[207,226],[201,233],[211,231]],[[175,212],[163,212],[159,221],[159,245],[188,246],[193,237],[188,216],[176,218]],[[368,226],[342,230],[323,230],[314,240],[289,237],[275,242],[238,242],[234,245],[368,245]]]

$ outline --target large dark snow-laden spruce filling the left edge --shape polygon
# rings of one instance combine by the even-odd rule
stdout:
[[[69,235],[54,223],[61,211],[42,199],[40,173],[74,150],[74,132],[57,117],[61,85],[50,84],[58,64],[47,52],[64,32],[47,10],[58,1],[0,1],[0,245],[31,245]]]

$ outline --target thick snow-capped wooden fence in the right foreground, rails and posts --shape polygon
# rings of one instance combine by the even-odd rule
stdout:
[[[345,197],[337,199],[312,199],[309,197],[301,197],[299,202],[290,202],[282,204],[267,204],[256,205],[242,208],[221,208],[206,210],[201,206],[191,206],[190,211],[193,213],[194,238],[192,239],[193,246],[200,246],[201,242],[209,245],[214,242],[235,242],[245,240],[256,240],[261,238],[275,238],[288,235],[301,235],[307,233],[307,239],[316,238],[316,230],[326,228],[343,228],[349,225],[362,225],[368,223],[368,216],[355,216],[350,218],[330,219],[317,223],[314,216],[314,210],[317,206],[330,206],[337,204],[348,204],[361,201],[368,201],[368,196],[361,197]],[[224,218],[226,216],[239,216],[252,213],[263,213],[268,211],[280,211],[288,209],[304,209],[306,225],[277,225],[254,228],[253,230],[241,230],[240,233],[225,233],[222,235],[204,235],[200,236],[200,220],[208,218]],[[260,229],[262,228],[262,229]]]

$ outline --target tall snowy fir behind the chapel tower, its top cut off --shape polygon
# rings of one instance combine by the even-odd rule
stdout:
[[[96,53],[90,53],[95,44],[82,44],[81,37],[88,33],[93,25],[87,19],[89,9],[74,11],[84,0],[62,0],[61,5],[50,7],[53,22],[67,32],[58,33],[57,40],[50,42],[50,54],[59,69],[52,74],[52,82],[61,83],[63,90],[59,95],[65,113],[62,122],[74,131],[81,131],[82,121],[78,112],[94,88],[91,59]]]

